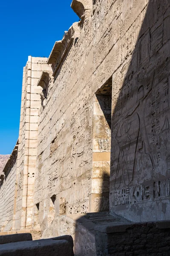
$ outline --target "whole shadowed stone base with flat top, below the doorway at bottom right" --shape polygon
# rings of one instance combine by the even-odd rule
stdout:
[[[170,256],[170,221],[132,223],[97,212],[76,223],[75,256]]]

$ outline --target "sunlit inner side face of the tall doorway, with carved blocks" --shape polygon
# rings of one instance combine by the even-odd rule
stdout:
[[[94,97],[92,193],[89,210],[100,212],[109,209],[110,128],[102,109],[104,96]]]

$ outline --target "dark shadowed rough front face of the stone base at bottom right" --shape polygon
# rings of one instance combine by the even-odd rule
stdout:
[[[97,256],[169,256],[170,221],[95,226]]]

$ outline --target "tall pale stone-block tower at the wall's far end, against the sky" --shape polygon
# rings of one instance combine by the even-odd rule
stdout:
[[[17,201],[14,229],[32,227],[33,195],[37,157],[38,109],[41,105],[37,87],[42,70],[47,70],[47,58],[29,56],[24,70],[20,134],[17,159]]]

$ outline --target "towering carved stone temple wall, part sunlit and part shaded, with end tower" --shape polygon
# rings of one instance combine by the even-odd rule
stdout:
[[[71,6],[81,20],[24,68],[13,229],[170,219],[170,0]]]

